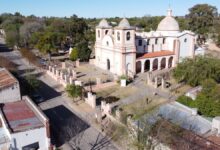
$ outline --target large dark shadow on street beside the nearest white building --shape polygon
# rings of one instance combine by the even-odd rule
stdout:
[[[50,120],[51,143],[57,147],[89,128],[86,122],[63,105],[45,110],[44,113]]]

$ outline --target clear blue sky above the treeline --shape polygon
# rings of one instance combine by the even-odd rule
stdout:
[[[86,18],[161,16],[169,6],[175,16],[184,16],[195,4],[207,3],[220,12],[220,0],[0,0],[0,14]]]

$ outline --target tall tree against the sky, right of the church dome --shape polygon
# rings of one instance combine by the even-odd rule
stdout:
[[[189,9],[189,27],[192,31],[204,35],[210,31],[213,26],[214,18],[218,11],[215,6],[208,4],[197,4]]]

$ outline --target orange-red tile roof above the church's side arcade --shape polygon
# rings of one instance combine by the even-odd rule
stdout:
[[[170,55],[174,55],[174,52],[162,50],[162,51],[158,51],[158,52],[146,53],[146,54],[138,57],[137,59],[155,58],[155,57],[170,56]]]

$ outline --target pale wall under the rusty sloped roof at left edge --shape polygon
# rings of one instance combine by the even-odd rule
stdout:
[[[21,94],[18,83],[0,90],[0,103],[8,103],[19,100],[21,100]]]

